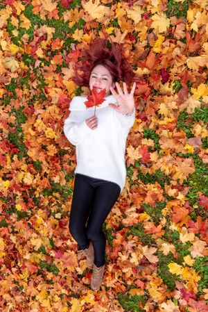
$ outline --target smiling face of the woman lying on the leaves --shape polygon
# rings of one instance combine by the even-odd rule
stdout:
[[[105,89],[105,95],[110,95],[110,87],[114,88],[114,83],[109,70],[103,65],[94,67],[89,77],[90,90],[94,88],[96,92],[101,92],[101,90]]]

